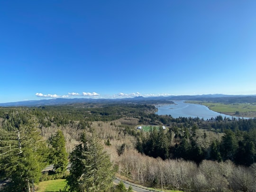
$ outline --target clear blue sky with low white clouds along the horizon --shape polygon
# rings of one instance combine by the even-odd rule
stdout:
[[[256,94],[255,0],[0,1],[0,102]]]

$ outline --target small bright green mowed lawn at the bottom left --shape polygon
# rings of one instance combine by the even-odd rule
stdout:
[[[36,192],[62,192],[67,184],[65,179],[56,179],[56,180],[49,180],[43,181],[38,184]]]

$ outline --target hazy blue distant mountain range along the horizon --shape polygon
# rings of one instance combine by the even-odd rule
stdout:
[[[11,106],[46,106],[46,105],[70,105],[73,103],[138,103],[138,104],[160,104],[160,103],[173,103],[175,100],[199,100],[199,101],[212,101],[212,102],[256,102],[256,95],[224,95],[224,94],[208,94],[208,95],[179,95],[179,96],[161,96],[161,97],[134,97],[124,99],[49,99],[49,100],[33,100],[33,101],[18,101],[0,103],[1,107]]]

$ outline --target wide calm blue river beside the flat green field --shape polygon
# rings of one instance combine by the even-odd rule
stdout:
[[[200,119],[203,118],[204,120],[210,119],[211,117],[215,118],[216,116],[221,115],[223,118],[227,117],[229,119],[232,119],[231,116],[221,114],[213,110],[209,110],[209,108],[204,105],[184,103],[184,101],[174,101],[174,103],[175,104],[171,104],[171,105],[168,104],[163,106],[156,106],[158,109],[156,114],[171,115],[173,118],[199,117]]]

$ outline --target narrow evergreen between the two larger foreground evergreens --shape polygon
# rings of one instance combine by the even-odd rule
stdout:
[[[52,145],[50,159],[54,164],[55,173],[63,174],[66,172],[68,165],[68,154],[65,147],[65,138],[61,130],[50,138],[50,144]]]

